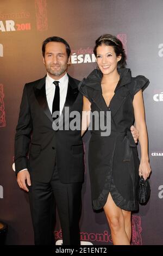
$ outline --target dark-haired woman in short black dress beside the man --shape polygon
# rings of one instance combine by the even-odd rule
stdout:
[[[104,209],[114,245],[130,245],[131,211],[138,209],[137,181],[139,175],[147,179],[151,172],[142,97],[149,81],[144,76],[132,77],[130,69],[124,68],[126,54],[115,36],[100,36],[94,53],[98,69],[79,84],[84,95],[82,133],[90,123],[91,114],[97,114],[91,118],[89,144],[92,205],[95,210]],[[102,112],[105,124],[107,113],[111,113],[110,135],[102,133],[101,125],[99,129],[95,127]],[[141,161],[130,132],[134,121],[139,130]]]

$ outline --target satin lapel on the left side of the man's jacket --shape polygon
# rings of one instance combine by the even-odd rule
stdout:
[[[47,99],[46,99],[46,88],[45,88],[46,76],[43,77],[39,84],[34,87],[34,94],[37,102],[42,108],[43,112],[53,122],[51,111],[49,110]]]

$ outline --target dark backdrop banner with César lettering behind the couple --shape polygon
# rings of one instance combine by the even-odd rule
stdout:
[[[132,216],[133,245],[163,243],[163,1],[162,0],[1,0],[0,1],[0,221],[8,224],[7,245],[32,245],[28,194],[17,185],[14,136],[24,84],[46,74],[41,45],[61,36],[72,49],[68,73],[82,80],[96,68],[93,46],[99,35],[116,35],[127,52],[133,76],[150,80],[143,93],[152,167],[151,198]],[[80,220],[84,244],[112,245],[103,211],[91,206],[87,154],[90,133],[83,138],[85,181]],[[61,243],[59,221],[55,239]]]

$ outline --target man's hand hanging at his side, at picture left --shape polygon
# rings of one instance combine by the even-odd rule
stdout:
[[[20,188],[22,188],[25,191],[29,191],[28,187],[26,186],[26,180],[28,186],[31,186],[31,181],[30,181],[30,174],[28,170],[22,170],[21,172],[18,172],[17,174],[17,183]]]

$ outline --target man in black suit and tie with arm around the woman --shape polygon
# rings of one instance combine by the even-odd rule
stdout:
[[[54,115],[52,117],[54,111],[65,117],[68,107],[69,112],[77,111],[82,117],[83,96],[78,91],[79,81],[66,72],[70,53],[68,43],[58,36],[43,42],[43,63],[47,75],[24,86],[16,127],[17,182],[23,190],[29,191],[35,245],[53,245],[55,205],[59,212],[63,244],[80,244],[79,218],[84,176],[81,131],[62,129],[64,125],[67,127],[71,118],[60,118],[58,123]],[[54,119],[60,127],[56,131],[53,129]],[[136,141],[136,130],[134,134]]]

